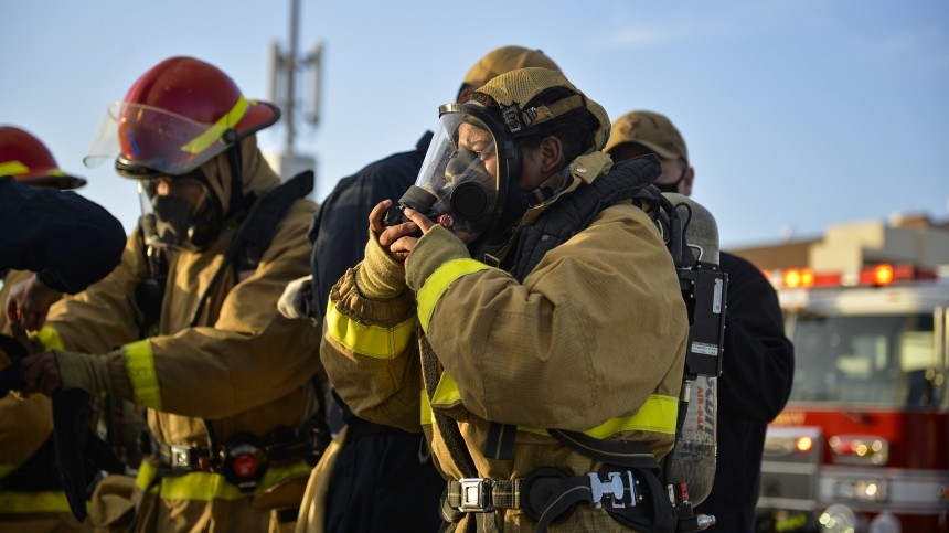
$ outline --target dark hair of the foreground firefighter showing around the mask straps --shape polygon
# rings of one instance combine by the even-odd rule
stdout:
[[[575,92],[567,87],[551,87],[535,96],[524,108],[551,105],[575,94]],[[471,100],[478,102],[499,114],[501,111],[501,106],[498,105],[494,98],[483,93],[472,94]],[[577,157],[590,151],[591,147],[595,146],[595,137],[598,129],[599,121],[597,118],[586,107],[582,107],[551,121],[537,125],[529,135],[519,137],[518,142],[523,148],[533,148],[540,146],[545,137],[554,136],[561,140],[564,147],[564,160],[566,163],[569,163]]]

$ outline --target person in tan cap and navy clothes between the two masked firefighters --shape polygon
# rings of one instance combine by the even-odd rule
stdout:
[[[524,66],[559,70],[540,50],[500,46],[471,66],[456,100],[466,102],[473,89],[498,74]],[[398,199],[415,182],[431,136],[426,131],[414,150],[388,156],[339,181],[311,226],[312,277],[288,288],[281,312],[322,319],[330,288],[362,259],[369,238],[369,213],[383,200]],[[300,291],[300,284],[309,284],[310,279],[312,285]],[[348,429],[337,439],[345,446],[333,467],[321,472],[330,477],[327,500],[322,503],[326,530],[391,531],[395,521],[404,531],[436,531],[441,523],[438,498],[445,481],[431,463],[420,433],[362,419],[338,398],[337,405],[340,419],[337,426],[345,424]],[[403,490],[401,487],[405,486],[413,489]]]

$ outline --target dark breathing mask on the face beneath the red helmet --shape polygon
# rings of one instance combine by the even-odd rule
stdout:
[[[142,214],[154,223],[154,234],[146,235],[147,245],[199,252],[220,233],[220,210],[203,179],[145,179],[138,190]]]

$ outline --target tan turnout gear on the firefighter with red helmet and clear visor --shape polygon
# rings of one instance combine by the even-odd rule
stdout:
[[[245,193],[259,196],[278,185],[254,137],[242,141],[242,152]],[[217,156],[202,170],[214,194],[230,198],[226,157]],[[116,394],[148,407],[148,427],[159,441],[206,447],[205,419],[222,444],[241,431],[259,437],[280,426],[296,427],[318,407],[310,380],[321,372],[320,338],[309,321],[280,316],[276,302],[289,281],[309,274],[307,231],[314,210],[309,200],[297,200],[256,270],[235,279],[228,267],[196,327],[189,319],[237,227],[227,225],[202,253],[172,253],[159,334],[142,341],[132,295],[148,271],[136,230],[115,271],[53,307],[49,327],[54,333],[45,330],[44,341],[106,358]],[[302,461],[271,463],[257,490],[243,494],[215,473],[153,482],[153,467],[147,458],[138,472],[138,490],[148,488],[139,531],[266,531],[269,512],[254,509],[254,497],[309,471]]]

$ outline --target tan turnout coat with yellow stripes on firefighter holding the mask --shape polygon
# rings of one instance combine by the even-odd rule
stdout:
[[[561,194],[589,179],[577,167]],[[321,359],[356,415],[425,430],[439,469],[457,480],[462,472],[431,425],[431,409],[446,413],[458,424],[477,475],[512,479],[539,467],[572,475],[599,467],[543,428],[590,430],[636,415],[650,398],[674,405],[686,313],[671,257],[642,210],[628,203],[604,210],[548,252],[523,283],[468,258],[459,245],[439,227],[423,236],[407,262],[412,288],[395,298],[362,296],[356,269],[365,262],[333,288]],[[373,246],[378,244],[371,239]],[[423,392],[422,334],[442,371],[431,406]],[[667,412],[673,424],[674,413]],[[483,454],[489,420],[518,426],[513,460]],[[646,443],[657,457],[673,444],[672,434],[643,427],[601,436]],[[499,510],[495,520],[505,532],[534,526],[520,509]],[[626,530],[580,504],[550,531]]]

